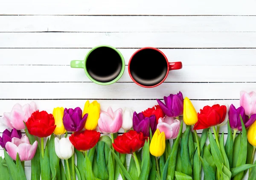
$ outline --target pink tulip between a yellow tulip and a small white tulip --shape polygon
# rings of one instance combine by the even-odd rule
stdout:
[[[122,127],[122,109],[113,112],[109,107],[107,112],[101,111],[98,121],[99,130],[104,133],[116,133]]]

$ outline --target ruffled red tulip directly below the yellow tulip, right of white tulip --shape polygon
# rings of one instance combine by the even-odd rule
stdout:
[[[87,151],[98,143],[100,133],[95,130],[75,132],[70,136],[70,142],[79,151]]]

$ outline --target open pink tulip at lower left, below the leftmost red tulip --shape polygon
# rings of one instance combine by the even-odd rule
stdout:
[[[16,160],[17,153],[19,154],[20,161],[32,160],[35,156],[37,146],[37,141],[35,141],[33,145],[31,145],[29,143],[29,138],[24,135],[20,139],[12,138],[12,142],[7,142],[6,150],[13,160]]]

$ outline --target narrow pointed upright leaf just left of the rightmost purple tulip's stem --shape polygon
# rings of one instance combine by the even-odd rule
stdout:
[[[230,167],[232,165],[232,159],[233,159],[233,146],[234,146],[233,135],[232,135],[230,123],[228,121],[227,122],[227,141],[225,144],[225,152],[226,152]]]

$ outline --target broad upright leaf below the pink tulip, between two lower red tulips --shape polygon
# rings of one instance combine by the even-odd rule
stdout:
[[[97,143],[97,163],[98,163],[98,178],[108,180],[108,170],[105,164],[104,146],[105,143],[100,141]]]

